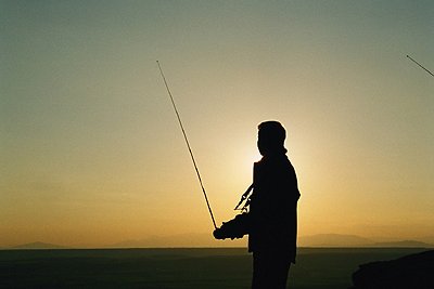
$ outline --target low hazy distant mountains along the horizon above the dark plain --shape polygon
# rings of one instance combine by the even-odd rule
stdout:
[[[215,240],[210,234],[180,234],[173,236],[151,236],[143,239],[125,240],[102,248],[189,248],[189,247],[246,247],[246,238]],[[298,247],[366,247],[366,248],[434,248],[434,244],[419,240],[375,241],[373,239],[344,234],[318,234],[298,237]],[[35,241],[1,250],[24,249],[68,249],[71,247]],[[81,248],[81,247],[80,247]],[[88,248],[88,247],[82,247]],[[97,248],[97,247],[92,247]],[[100,247],[101,248],[101,247]]]

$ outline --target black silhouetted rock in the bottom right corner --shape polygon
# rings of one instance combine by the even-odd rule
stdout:
[[[352,289],[434,289],[434,250],[362,264]]]

